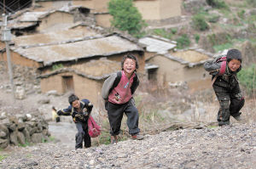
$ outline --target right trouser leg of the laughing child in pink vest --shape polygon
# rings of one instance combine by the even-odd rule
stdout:
[[[136,135],[138,132],[140,132],[140,129],[138,128],[139,114],[131,99],[125,107],[125,115],[127,115],[127,126],[129,127],[129,133],[131,135]]]

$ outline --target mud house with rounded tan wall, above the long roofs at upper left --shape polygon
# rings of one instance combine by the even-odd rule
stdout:
[[[30,8],[22,12],[14,14],[9,24],[9,28],[16,36],[59,31],[77,22],[87,22],[88,25],[95,23],[95,20],[90,17],[90,8],[81,6],[63,6],[45,11]]]

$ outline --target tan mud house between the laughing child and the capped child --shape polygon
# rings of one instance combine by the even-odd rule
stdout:
[[[195,48],[154,54],[146,59],[146,65],[151,68],[148,70],[148,78],[161,86],[177,82],[187,82],[189,88],[195,89],[210,86],[208,74],[203,68],[208,59],[212,59],[212,54]]]

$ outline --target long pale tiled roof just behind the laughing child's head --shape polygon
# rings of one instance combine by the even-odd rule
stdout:
[[[21,56],[37,62],[43,62],[44,65],[52,65],[59,61],[91,58],[94,56],[109,56],[131,51],[143,51],[143,48],[137,46],[136,43],[116,35],[42,47],[13,47],[12,49]]]

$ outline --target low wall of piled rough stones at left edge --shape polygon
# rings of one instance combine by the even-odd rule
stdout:
[[[41,115],[0,115],[0,149],[11,145],[38,144],[49,139],[48,122]]]

